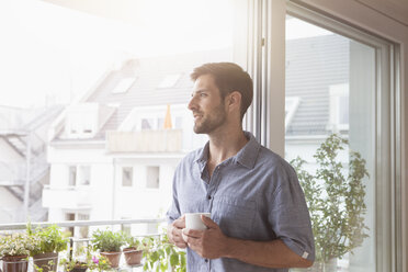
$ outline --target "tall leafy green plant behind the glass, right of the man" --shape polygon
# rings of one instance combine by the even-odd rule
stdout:
[[[338,154],[345,145],[347,139],[330,135],[314,155],[318,166],[314,174],[303,169],[305,160],[296,158],[291,161],[310,213],[316,247],[315,271],[330,271],[333,260],[352,253],[367,237],[363,179],[369,173],[361,155],[350,151],[345,177],[345,169],[338,160]]]

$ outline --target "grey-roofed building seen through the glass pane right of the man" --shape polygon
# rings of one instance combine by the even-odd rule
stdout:
[[[349,135],[350,44],[336,34],[286,41],[285,158],[301,156],[310,170],[329,134]]]

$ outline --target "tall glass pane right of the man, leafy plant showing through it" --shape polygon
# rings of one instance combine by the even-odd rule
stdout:
[[[374,65],[374,48],[286,18],[286,118],[291,110],[293,115],[285,122],[285,159],[305,160],[302,167],[292,163],[298,167],[314,225],[311,271],[375,271]],[[298,98],[295,111],[293,98]],[[329,152],[314,155],[332,134],[349,144],[325,167],[336,141],[327,141]],[[361,168],[355,169],[350,151],[365,160],[370,178],[362,172],[355,179]]]

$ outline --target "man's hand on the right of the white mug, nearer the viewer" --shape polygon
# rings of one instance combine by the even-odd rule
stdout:
[[[183,229],[184,240],[197,254],[206,259],[224,257],[228,251],[228,237],[223,234],[219,226],[206,216],[201,216],[206,230]]]

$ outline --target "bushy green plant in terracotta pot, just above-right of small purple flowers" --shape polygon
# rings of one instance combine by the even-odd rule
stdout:
[[[106,257],[112,268],[117,268],[121,259],[121,247],[125,243],[122,233],[112,230],[97,230],[92,234],[92,245],[94,250],[99,250],[101,256]]]

